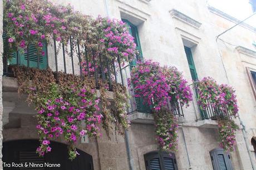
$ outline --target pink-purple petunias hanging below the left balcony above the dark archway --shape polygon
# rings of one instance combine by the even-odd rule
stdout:
[[[72,99],[68,99],[71,101],[62,97],[48,99],[45,106],[38,110],[37,129],[41,146],[37,152],[41,155],[51,151],[49,144],[54,137],[62,135],[66,142],[75,143],[84,134],[101,135],[97,124],[101,123],[102,115],[96,94],[87,87],[71,87],[70,93]],[[85,122],[86,126],[82,128],[81,122]]]

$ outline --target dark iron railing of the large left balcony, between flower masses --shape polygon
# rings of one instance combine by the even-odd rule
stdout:
[[[4,41],[5,38],[3,37]],[[100,51],[92,48],[81,47],[77,40],[70,38],[70,48],[66,48],[64,44],[57,44],[53,40],[53,46],[47,46],[45,43],[43,53],[38,54],[33,44],[29,45],[25,52],[17,50],[12,54],[3,53],[3,73],[4,76],[13,77],[13,66],[26,66],[39,69],[51,68],[58,77],[59,72],[67,74],[75,74],[93,77],[95,79],[96,88],[99,88],[100,82],[108,82],[109,88],[112,87],[112,81],[117,82],[117,77],[124,84],[122,77],[121,63],[119,58],[117,61],[110,61],[109,58],[101,55]],[[74,44],[76,44],[74,46]],[[59,48],[58,48],[58,47]],[[61,52],[62,51],[62,52]],[[83,64],[81,62],[84,62]]]

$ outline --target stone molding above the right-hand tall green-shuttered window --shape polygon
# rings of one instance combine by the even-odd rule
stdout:
[[[180,11],[177,11],[176,9],[171,9],[170,15],[173,18],[179,19],[180,21],[189,24],[190,26],[193,26],[195,28],[199,28],[201,26],[201,23],[196,21],[193,18],[190,18],[189,16],[185,15],[184,13],[181,13]]]

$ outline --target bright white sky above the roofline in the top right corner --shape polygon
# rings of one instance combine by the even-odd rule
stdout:
[[[208,4],[239,20],[243,20],[253,14],[249,0],[208,0]],[[249,18],[246,23],[256,27],[256,14]]]

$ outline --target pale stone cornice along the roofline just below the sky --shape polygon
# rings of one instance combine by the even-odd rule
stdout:
[[[231,22],[234,22],[234,23],[239,23],[239,22],[241,22],[239,19],[234,18],[234,17],[230,16],[229,14],[227,14],[227,13],[225,13],[225,12],[222,12],[222,11],[220,11],[219,9],[216,9],[216,8],[214,8],[214,7],[209,6],[208,9],[209,9],[210,12],[215,13],[215,14],[217,14],[218,16],[223,17],[223,18],[225,18],[225,19],[228,19],[228,20],[231,21]],[[253,26],[250,26],[250,25],[247,24],[247,23],[244,23],[244,22],[243,22],[243,23],[240,23],[239,26],[242,26],[242,27],[244,27],[244,28],[247,28],[247,29],[249,29],[250,31],[256,32],[256,28],[253,27]]]

